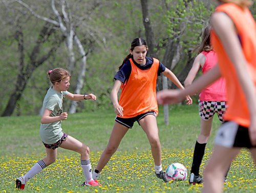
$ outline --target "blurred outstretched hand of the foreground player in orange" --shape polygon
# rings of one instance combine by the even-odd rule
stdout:
[[[162,90],[157,93],[157,101],[159,104],[162,104],[162,105],[179,103],[182,100],[183,100],[183,97],[180,96],[180,90],[178,90],[178,89],[177,90]]]

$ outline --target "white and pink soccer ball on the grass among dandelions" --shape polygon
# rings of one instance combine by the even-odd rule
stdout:
[[[187,178],[187,169],[181,163],[172,163],[170,164],[165,171],[166,180],[186,180]]]

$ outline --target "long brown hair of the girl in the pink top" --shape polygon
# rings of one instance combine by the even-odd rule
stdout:
[[[212,50],[212,47],[210,45],[210,31],[210,25],[204,28],[201,44],[193,50],[197,54],[200,54],[202,51],[209,52]]]

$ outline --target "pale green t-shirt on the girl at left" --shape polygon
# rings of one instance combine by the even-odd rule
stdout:
[[[47,91],[44,102],[42,103],[42,112],[45,109],[52,111],[51,117],[59,116],[62,113],[62,101],[63,97],[67,95],[67,91],[57,92],[52,87]],[[44,143],[53,144],[56,143],[62,137],[63,132],[61,128],[61,121],[53,123],[40,124],[40,137]]]

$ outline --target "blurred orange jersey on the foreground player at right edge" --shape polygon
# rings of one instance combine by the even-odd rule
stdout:
[[[216,12],[226,13],[236,26],[238,38],[248,62],[249,74],[247,76],[252,78],[256,87],[256,25],[249,9],[242,9],[235,4],[226,3],[218,6]],[[236,70],[222,42],[213,30],[211,41],[218,54],[221,74],[226,79],[228,109],[224,119],[235,121],[242,126],[248,127],[250,125],[249,104],[246,102]]]

